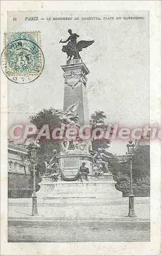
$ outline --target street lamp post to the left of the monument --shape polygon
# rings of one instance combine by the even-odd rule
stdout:
[[[35,146],[32,147],[31,157],[33,159],[33,196],[32,196],[32,216],[38,215],[37,211],[37,196],[36,196],[36,180],[35,180],[35,159],[37,155],[37,150]]]

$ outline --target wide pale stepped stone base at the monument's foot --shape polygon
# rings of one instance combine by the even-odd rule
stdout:
[[[88,181],[53,182],[42,178],[37,192],[38,203],[56,205],[99,205],[122,198],[111,175],[88,175]]]

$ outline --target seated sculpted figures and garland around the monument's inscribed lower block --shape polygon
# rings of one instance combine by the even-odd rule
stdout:
[[[93,155],[93,164],[94,164],[94,171],[96,175],[102,175],[103,173],[107,173],[109,175],[112,175],[109,172],[108,169],[108,162],[103,161],[103,157],[111,158],[109,156],[106,156],[104,153],[102,153],[102,149],[98,148],[98,151],[91,151],[91,155]],[[53,157],[50,161],[45,160],[45,167],[46,172],[44,174],[45,177],[51,177],[53,178],[54,182],[57,182],[58,179],[61,179],[62,181],[77,181],[80,180],[83,182],[83,178],[88,181],[88,174],[89,174],[89,168],[85,166],[85,162],[82,162],[82,165],[80,166],[80,169],[76,176],[69,178],[66,177],[63,174],[63,171],[59,167],[58,164],[58,156],[57,156],[57,150],[53,150]]]

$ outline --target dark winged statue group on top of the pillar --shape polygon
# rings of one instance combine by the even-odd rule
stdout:
[[[79,52],[82,51],[83,48],[87,48],[88,46],[90,46],[91,44],[93,44],[94,40],[91,41],[85,41],[85,40],[81,40],[79,42],[77,42],[77,37],[79,37],[79,35],[77,35],[76,33],[72,33],[72,30],[69,29],[68,33],[70,33],[70,36],[67,38],[67,40],[62,41],[62,39],[60,40],[60,42],[62,42],[63,44],[65,42],[68,42],[68,44],[66,46],[62,47],[62,51],[66,52],[67,54],[67,58],[69,58],[69,60],[72,59],[80,59],[80,55]]]

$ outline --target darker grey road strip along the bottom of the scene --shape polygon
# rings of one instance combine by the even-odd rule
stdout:
[[[8,242],[150,241],[149,223],[9,221]]]

